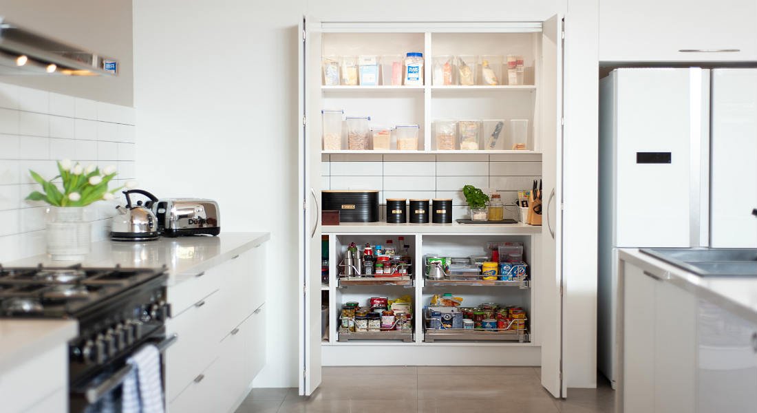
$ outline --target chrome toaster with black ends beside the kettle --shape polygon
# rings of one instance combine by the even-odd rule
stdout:
[[[221,232],[218,203],[210,199],[160,199],[152,209],[157,217],[157,230],[164,236],[216,236]]]

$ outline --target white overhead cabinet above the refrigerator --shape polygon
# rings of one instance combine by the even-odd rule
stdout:
[[[602,0],[600,61],[757,61],[757,2]]]

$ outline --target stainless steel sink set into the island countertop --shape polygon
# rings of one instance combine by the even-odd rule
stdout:
[[[640,251],[700,277],[757,277],[757,249],[646,248]]]

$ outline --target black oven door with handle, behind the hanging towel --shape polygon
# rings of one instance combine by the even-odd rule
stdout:
[[[166,383],[164,354],[178,339],[179,337],[176,334],[167,337],[165,328],[163,327],[144,337],[140,340],[139,345],[134,347],[135,349],[140,349],[145,344],[154,344],[157,346],[161,356],[160,373],[164,397]],[[121,411],[123,380],[126,380],[126,377],[134,369],[132,365],[126,362],[130,355],[123,355],[120,358],[107,362],[98,369],[94,377],[91,375],[91,378],[83,380],[83,383],[71,383],[69,395],[70,413]]]

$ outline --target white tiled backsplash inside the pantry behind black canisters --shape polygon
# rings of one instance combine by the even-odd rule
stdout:
[[[451,198],[456,219],[467,215],[463,186],[499,192],[512,204],[540,177],[541,155],[322,155],[321,166],[322,189],[378,189],[382,205],[387,198]],[[506,217],[517,219],[515,206]]]

